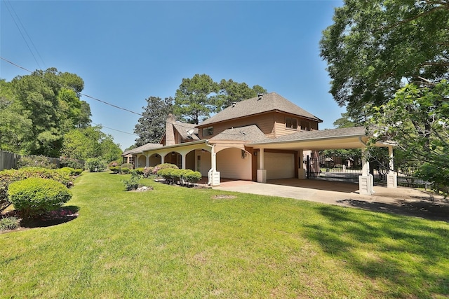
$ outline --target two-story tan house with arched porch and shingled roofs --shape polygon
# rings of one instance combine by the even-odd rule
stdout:
[[[271,92],[234,102],[199,125],[169,115],[159,146],[135,148],[123,155],[133,155],[135,167],[169,162],[201,172],[213,186],[220,184],[220,178],[304,179],[304,153],[364,148],[369,139],[364,127],[319,130],[319,123],[320,118]],[[367,164],[364,184],[372,185]]]

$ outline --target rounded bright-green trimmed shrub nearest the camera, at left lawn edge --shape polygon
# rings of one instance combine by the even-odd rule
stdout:
[[[60,208],[72,194],[52,179],[30,178],[10,183],[8,196],[23,218],[34,218]]]

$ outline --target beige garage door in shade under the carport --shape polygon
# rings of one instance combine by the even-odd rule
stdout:
[[[264,169],[267,179],[290,179],[295,177],[293,153],[264,153]]]

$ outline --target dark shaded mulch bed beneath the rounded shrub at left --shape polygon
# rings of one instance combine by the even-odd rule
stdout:
[[[20,226],[22,228],[44,228],[58,225],[74,220],[78,217],[79,207],[65,206],[58,210],[48,212],[39,218],[22,219]]]

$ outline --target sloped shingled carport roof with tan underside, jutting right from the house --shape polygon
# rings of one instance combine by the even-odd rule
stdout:
[[[253,142],[254,148],[288,150],[321,150],[338,148],[361,148],[369,135],[366,127],[344,127],[339,129],[314,130],[283,135],[273,139]]]

